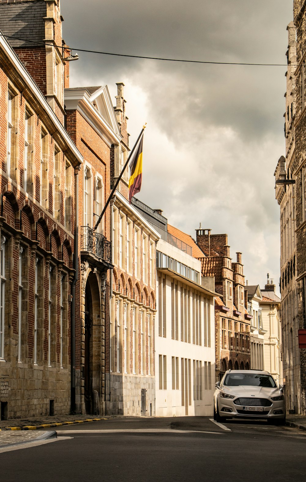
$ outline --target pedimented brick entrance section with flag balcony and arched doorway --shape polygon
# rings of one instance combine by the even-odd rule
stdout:
[[[66,88],[66,125],[83,155],[79,174],[81,318],[81,405],[87,414],[105,413],[105,364],[109,352],[110,207],[95,225],[110,193],[110,160],[122,137],[107,86]],[[79,301],[80,300],[80,301]]]

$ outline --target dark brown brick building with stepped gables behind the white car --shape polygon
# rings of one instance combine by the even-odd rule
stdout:
[[[196,229],[196,244],[203,252],[202,276],[215,278],[216,380],[228,369],[250,369],[250,315],[245,308],[241,253],[230,258],[227,234]]]

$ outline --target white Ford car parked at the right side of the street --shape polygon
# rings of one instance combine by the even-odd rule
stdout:
[[[277,386],[269,372],[228,370],[214,393],[214,419],[266,418],[279,425],[286,423],[282,385]]]

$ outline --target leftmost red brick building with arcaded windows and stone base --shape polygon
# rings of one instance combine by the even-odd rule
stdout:
[[[9,28],[10,35],[17,33],[20,25],[17,20],[9,22],[7,13],[13,12],[17,19],[17,9],[32,6],[39,6],[40,14],[35,16],[41,22],[38,39],[58,43],[61,22],[56,2],[1,1],[0,28],[6,33]],[[25,33],[29,32],[27,20],[24,23]],[[50,30],[50,25],[55,27]],[[36,54],[29,55],[27,42],[20,45],[13,41],[13,46],[31,71]],[[75,185],[83,158],[63,127],[65,52],[61,49],[51,57],[49,54],[48,48],[40,47],[40,61],[34,69],[37,82],[45,79],[41,91],[9,43],[0,37],[3,419],[66,414],[75,401],[75,367],[79,362],[74,352],[74,327],[79,322],[74,310],[72,253]],[[60,75],[55,81],[57,65]]]

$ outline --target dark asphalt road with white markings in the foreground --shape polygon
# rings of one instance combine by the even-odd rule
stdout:
[[[72,437],[72,438],[67,438]],[[258,421],[119,417],[0,454],[3,482],[305,480],[306,433]]]

